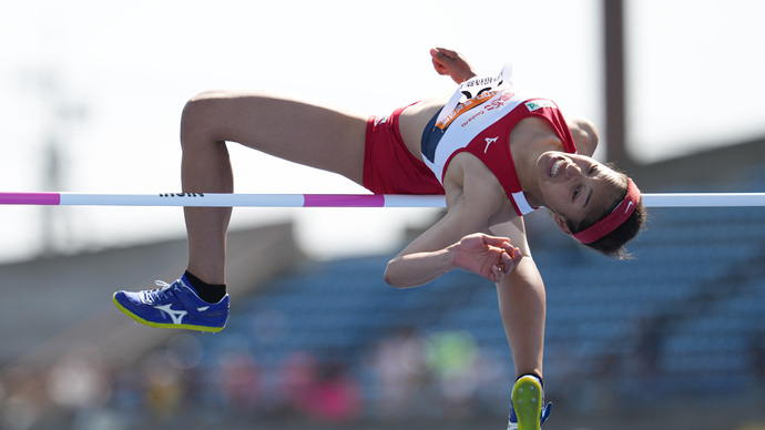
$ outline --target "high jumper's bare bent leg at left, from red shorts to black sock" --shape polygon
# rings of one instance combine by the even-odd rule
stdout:
[[[234,191],[227,141],[361,184],[366,123],[366,115],[261,93],[202,93],[186,104],[181,121],[183,191]],[[184,209],[187,268],[207,284],[225,284],[231,213],[231,208]]]

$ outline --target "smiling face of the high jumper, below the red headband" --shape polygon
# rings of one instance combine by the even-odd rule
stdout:
[[[544,206],[564,219],[599,217],[624,194],[621,173],[584,155],[545,152],[537,161],[537,175]]]

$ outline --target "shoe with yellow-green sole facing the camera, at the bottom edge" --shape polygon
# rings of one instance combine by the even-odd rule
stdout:
[[[544,390],[539,379],[524,375],[512,387],[508,430],[540,430],[551,409],[552,403],[544,406]]]

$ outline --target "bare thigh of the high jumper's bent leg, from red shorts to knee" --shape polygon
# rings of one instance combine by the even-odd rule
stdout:
[[[205,123],[208,137],[363,182],[368,115],[262,92],[205,92],[186,110],[196,102],[204,114],[194,121]]]

